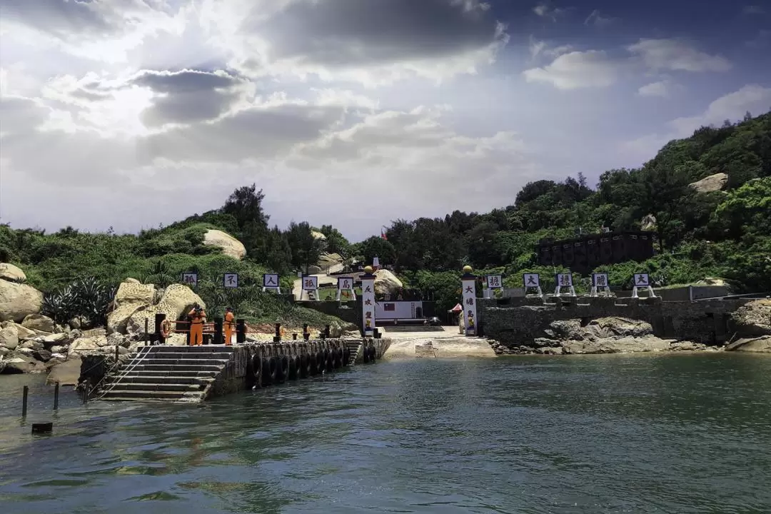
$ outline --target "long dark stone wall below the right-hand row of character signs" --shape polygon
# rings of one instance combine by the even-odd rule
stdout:
[[[747,299],[662,301],[660,298],[480,299],[478,319],[483,335],[503,344],[531,344],[544,338],[553,321],[579,320],[588,324],[604,317],[620,317],[651,324],[659,338],[703,344],[722,344],[732,337],[731,313]]]

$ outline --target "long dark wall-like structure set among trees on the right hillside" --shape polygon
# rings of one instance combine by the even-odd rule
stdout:
[[[560,241],[541,240],[536,248],[537,262],[588,274],[603,264],[649,259],[655,253],[657,241],[655,232],[631,230],[592,233]]]

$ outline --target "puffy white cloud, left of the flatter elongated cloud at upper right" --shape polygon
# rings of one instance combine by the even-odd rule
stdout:
[[[557,89],[608,87],[618,79],[618,63],[598,50],[569,52],[542,68],[524,71],[527,82],[547,82]]]

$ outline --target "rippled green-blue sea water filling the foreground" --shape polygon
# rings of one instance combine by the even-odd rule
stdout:
[[[9,384],[6,514],[771,512],[766,356],[381,361],[203,406],[69,393],[36,438]],[[35,391],[28,422],[50,420]]]

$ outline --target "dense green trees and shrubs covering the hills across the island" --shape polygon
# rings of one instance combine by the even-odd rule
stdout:
[[[725,190],[699,193],[689,186],[715,173],[729,176]],[[258,291],[265,270],[281,273],[288,290],[295,271],[314,264],[323,250],[308,223],[271,228],[263,199],[254,184],[241,187],[219,210],[136,236],[71,227],[46,235],[0,227],[0,261],[19,264],[31,284],[50,294],[62,294],[62,287],[86,276],[106,287],[125,277],[163,286],[193,270],[200,276],[199,294],[216,308],[234,304],[258,321],[320,320],[319,314]],[[647,215],[657,222],[658,254],[644,263],[598,268],[614,286],[628,287],[631,274],[648,271],[661,286],[720,277],[739,290],[771,290],[771,113],[702,127],[671,141],[638,169],[603,173],[594,188],[581,174],[561,183],[539,180],[524,186],[513,205],[490,213],[396,220],[387,240],[350,244],[334,227],[313,230],[325,234],[328,252],[366,262],[378,256],[396,268],[407,287],[433,291],[439,308],[449,308],[464,264],[478,273],[503,272],[508,286],[521,286],[524,272],[547,278],[561,271],[535,265],[534,246],[541,238],[571,237],[576,227],[584,233],[602,226],[638,228]],[[209,228],[238,237],[247,259],[239,262],[204,246]],[[224,290],[226,272],[240,274],[244,287]],[[582,278],[577,277],[579,289]]]

